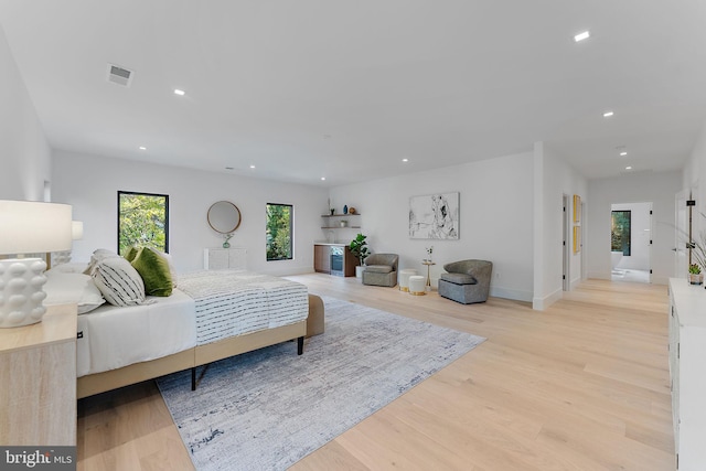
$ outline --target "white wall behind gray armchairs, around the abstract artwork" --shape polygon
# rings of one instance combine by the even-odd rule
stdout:
[[[361,213],[362,232],[373,251],[400,256],[400,268],[426,275],[421,259],[434,245],[432,285],[443,264],[479,258],[493,263],[491,295],[531,301],[533,295],[533,157],[520,153],[428,172],[404,174],[331,189],[331,202]],[[410,239],[409,197],[460,193],[458,240]],[[350,240],[357,231],[338,229]],[[322,237],[325,235],[322,234]]]

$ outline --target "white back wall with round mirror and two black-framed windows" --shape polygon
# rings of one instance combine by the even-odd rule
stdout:
[[[202,172],[95,156],[55,152],[53,193],[74,206],[83,221],[84,238],[74,242],[72,259],[88,260],[96,248],[117,249],[117,192],[169,195],[170,253],[180,271],[201,269],[203,248],[218,247],[222,236],[211,229],[206,212],[227,200],[240,210],[243,222],[232,247],[248,250],[248,269],[272,275],[313,271],[314,239],[321,238],[321,214],[328,190],[225,173]],[[266,261],[265,205],[295,205],[295,259]]]

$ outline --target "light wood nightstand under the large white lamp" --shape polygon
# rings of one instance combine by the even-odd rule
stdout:
[[[0,445],[76,445],[76,304],[0,329]]]

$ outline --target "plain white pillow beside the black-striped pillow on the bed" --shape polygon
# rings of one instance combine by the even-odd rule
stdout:
[[[46,292],[45,306],[75,303],[79,314],[90,312],[106,302],[88,275],[52,269],[46,271],[43,289]]]

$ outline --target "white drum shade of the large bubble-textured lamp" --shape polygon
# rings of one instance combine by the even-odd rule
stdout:
[[[0,200],[0,254],[60,251],[71,246],[71,205]]]

